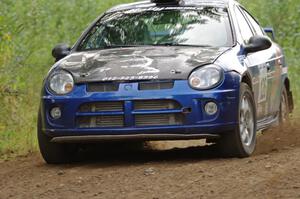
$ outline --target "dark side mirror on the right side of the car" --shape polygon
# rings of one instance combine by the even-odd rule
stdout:
[[[266,36],[255,35],[249,39],[247,45],[244,46],[246,53],[254,53],[266,50],[272,46],[271,40]]]

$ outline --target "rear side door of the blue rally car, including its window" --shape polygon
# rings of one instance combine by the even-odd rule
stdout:
[[[265,35],[258,22],[243,8],[241,12],[245,15],[249,24],[252,26],[256,35]],[[281,73],[284,58],[281,49],[275,43],[268,50],[257,53],[265,59],[265,66],[263,71],[267,72],[267,104],[266,112],[269,116],[275,116],[279,110],[280,94],[281,94]],[[264,61],[264,60],[262,60]],[[267,70],[266,70],[267,69]],[[265,75],[262,75],[265,76]]]

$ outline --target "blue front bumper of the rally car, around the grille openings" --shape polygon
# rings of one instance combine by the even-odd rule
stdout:
[[[211,137],[225,131],[233,130],[238,121],[239,76],[234,72],[225,73],[222,84],[217,88],[198,91],[189,87],[186,80],[174,81],[172,89],[139,90],[137,82],[120,83],[116,92],[87,92],[86,84],[76,85],[73,92],[66,96],[55,96],[45,87],[41,99],[41,116],[43,131],[51,137],[73,137],[74,140],[90,138],[142,138],[156,139],[189,139]],[[180,109],[170,110],[134,110],[133,103],[139,100],[173,100],[180,104]],[[124,103],[122,112],[103,112],[99,114],[122,114],[124,126],[104,128],[80,128],[77,119],[79,107],[91,102],[121,101]],[[208,115],[204,111],[207,102],[215,102],[218,111]],[[50,116],[53,107],[60,107],[62,115],[54,120]],[[186,111],[189,110],[189,111]],[[136,115],[178,113],[184,116],[180,125],[137,126]],[[85,115],[98,113],[85,113]],[[83,114],[84,115],[84,114]],[[126,136],[127,135],[127,136]],[[76,138],[77,137],[77,138]],[[126,137],[126,138],[125,138]],[[55,139],[54,139],[55,140]],[[63,140],[63,139],[61,139]]]

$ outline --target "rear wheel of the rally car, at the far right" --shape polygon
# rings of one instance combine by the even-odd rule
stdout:
[[[289,119],[289,101],[286,87],[283,86],[280,97],[280,109],[279,109],[279,124],[284,124]]]

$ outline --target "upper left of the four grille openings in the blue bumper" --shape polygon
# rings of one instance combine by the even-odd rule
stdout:
[[[79,112],[123,111],[123,102],[92,102],[80,106]]]

